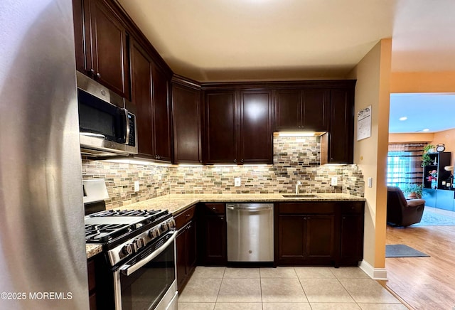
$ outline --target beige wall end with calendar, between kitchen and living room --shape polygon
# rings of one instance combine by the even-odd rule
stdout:
[[[365,177],[373,178],[373,187],[365,187],[365,262],[373,268],[385,267],[386,164],[390,109],[390,63],[392,40],[382,39],[350,73],[356,78],[355,115],[372,106],[371,137],[357,141],[354,135],[354,163]]]

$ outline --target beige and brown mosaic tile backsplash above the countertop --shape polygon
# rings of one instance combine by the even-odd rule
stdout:
[[[82,178],[104,178],[107,208],[168,193],[349,193],[362,196],[364,181],[356,165],[321,166],[320,137],[274,137],[274,164],[255,166],[144,166],[82,161]],[[241,186],[234,186],[240,177]],[[338,186],[331,186],[336,177]],[[134,193],[134,181],[139,192]]]

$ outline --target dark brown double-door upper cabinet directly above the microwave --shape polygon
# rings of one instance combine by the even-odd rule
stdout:
[[[73,16],[77,70],[129,99],[128,35],[122,20],[102,0],[73,0]]]

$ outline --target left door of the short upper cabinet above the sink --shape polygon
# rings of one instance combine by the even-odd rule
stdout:
[[[275,130],[300,129],[301,90],[277,90]]]

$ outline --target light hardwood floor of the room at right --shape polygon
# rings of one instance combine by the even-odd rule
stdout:
[[[455,309],[455,226],[387,226],[386,243],[430,255],[386,258],[389,289],[414,309]]]

